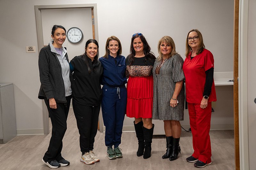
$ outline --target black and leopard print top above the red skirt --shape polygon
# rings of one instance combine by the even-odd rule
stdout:
[[[134,57],[134,62],[132,63],[132,65],[129,65],[128,57],[126,58],[126,78],[129,78],[129,76],[148,77],[152,75],[152,69],[155,61],[146,61],[145,63],[145,56],[141,58]]]

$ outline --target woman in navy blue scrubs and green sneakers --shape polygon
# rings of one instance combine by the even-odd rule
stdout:
[[[121,53],[122,46],[119,39],[111,36],[106,42],[106,54],[99,59],[103,67],[101,109],[106,127],[105,144],[108,159],[123,157],[118,146],[121,144],[126,110],[127,79],[125,78],[125,57]]]

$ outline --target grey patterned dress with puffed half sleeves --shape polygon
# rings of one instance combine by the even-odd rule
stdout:
[[[156,67],[161,61],[156,59],[153,67],[154,90],[153,90],[153,119],[182,121],[184,118],[185,88],[184,82],[177,97],[179,103],[176,107],[170,106],[175,84],[185,80],[182,70],[183,59],[179,54],[166,59],[159,74],[156,75]]]

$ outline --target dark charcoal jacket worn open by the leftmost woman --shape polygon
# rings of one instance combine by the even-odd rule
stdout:
[[[65,57],[68,60],[68,54]],[[40,75],[39,99],[47,100],[54,98],[56,102],[66,103],[65,86],[61,74],[61,65],[57,55],[51,52],[50,44],[40,50],[38,58],[38,67]],[[69,71],[69,79],[72,84],[72,74]]]

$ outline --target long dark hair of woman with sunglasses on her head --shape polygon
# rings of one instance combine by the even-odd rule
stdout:
[[[135,56],[136,52],[135,52],[135,50],[133,48],[133,41],[134,41],[135,38],[138,38],[138,37],[140,38],[141,42],[143,42],[143,51],[144,51],[144,54],[146,56],[146,59],[145,59],[144,63],[147,60],[152,61],[152,59],[156,58],[154,53],[150,51],[151,48],[149,47],[148,42],[145,39],[145,37],[143,35],[136,34],[134,37],[132,37],[132,41],[131,41],[130,56],[129,56],[129,59],[128,59],[129,65],[131,65],[133,63],[133,61],[134,61],[134,56]]]

